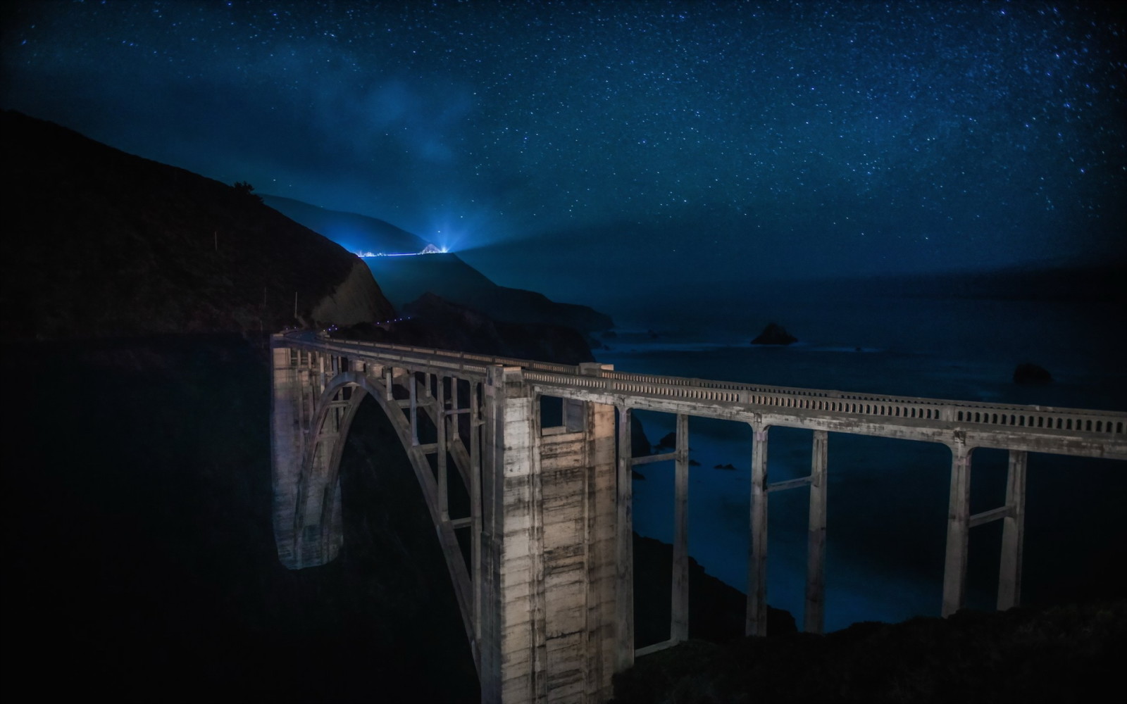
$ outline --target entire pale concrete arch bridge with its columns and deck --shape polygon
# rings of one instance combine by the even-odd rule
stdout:
[[[809,487],[804,630],[823,629],[829,433],[951,452],[940,612],[965,600],[970,528],[1002,520],[997,607],[1021,598],[1028,453],[1127,460],[1127,413],[760,386],[470,353],[276,335],[274,533],[290,569],[343,541],[338,466],[375,400],[415,470],[450,570],[483,702],[602,702],[637,656],[689,636],[689,417],[746,422],[751,448],[745,631],[766,632],[767,499]],[[542,398],[561,399],[544,425]],[[630,413],[676,417],[673,452],[631,456]],[[771,428],[811,431],[810,474],[769,483]],[[1009,451],[1005,502],[971,515],[975,448]],[[675,465],[671,638],[635,649],[632,467]]]

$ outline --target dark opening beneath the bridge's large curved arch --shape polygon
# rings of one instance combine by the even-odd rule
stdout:
[[[442,546],[410,460],[379,403],[365,398],[340,457],[346,611],[381,605],[362,638],[394,648],[372,695],[402,701],[477,702],[473,656]],[[357,630],[353,624],[349,630]]]

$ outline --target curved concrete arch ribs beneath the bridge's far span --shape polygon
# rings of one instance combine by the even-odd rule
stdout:
[[[312,540],[317,541],[313,552],[320,553],[323,561],[332,560],[339,553],[344,536],[340,458],[356,412],[364,399],[371,398],[391,421],[415,472],[442,546],[467,639],[471,650],[476,651],[470,573],[450,520],[443,516],[437,481],[427,454],[415,442],[410,422],[398,402],[389,399],[391,395],[384,382],[374,381],[362,372],[339,372],[327,381],[314,407],[311,437],[302,457],[294,531],[298,551],[302,551],[302,542]]]

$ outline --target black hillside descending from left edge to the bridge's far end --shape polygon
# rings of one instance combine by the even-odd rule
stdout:
[[[392,313],[361,260],[249,193],[52,123],[0,116],[3,332],[279,329]]]

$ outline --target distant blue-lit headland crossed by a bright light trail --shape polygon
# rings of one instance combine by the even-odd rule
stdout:
[[[349,250],[383,253],[418,252],[427,242],[376,217],[341,213],[291,198],[264,196],[289,217],[320,232]],[[397,308],[433,293],[476,309],[500,322],[541,323],[598,332],[614,327],[610,315],[586,305],[557,303],[523,288],[498,286],[455,253],[365,259],[383,294]]]

